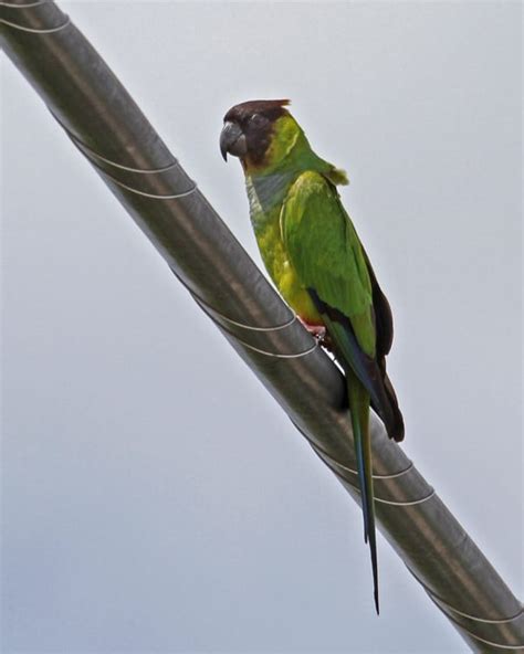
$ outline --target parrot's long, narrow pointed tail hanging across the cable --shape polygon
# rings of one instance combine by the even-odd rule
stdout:
[[[373,492],[371,439],[369,434],[369,393],[352,370],[346,371],[349,410],[352,413],[358,484],[360,486],[364,540],[369,542],[371,557],[375,608],[379,614],[378,602],[378,560],[375,528],[375,497]]]

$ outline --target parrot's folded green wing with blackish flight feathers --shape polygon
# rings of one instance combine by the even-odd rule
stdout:
[[[385,362],[392,340],[391,310],[335,187],[321,173],[303,172],[290,189],[281,232],[340,363],[349,365],[365,386],[389,436],[401,441],[402,414]]]

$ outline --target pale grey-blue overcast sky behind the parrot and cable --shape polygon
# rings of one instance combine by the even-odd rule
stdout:
[[[63,2],[256,262],[222,116],[291,97],[396,318],[406,451],[522,591],[521,7]],[[10,652],[465,645],[2,64]]]

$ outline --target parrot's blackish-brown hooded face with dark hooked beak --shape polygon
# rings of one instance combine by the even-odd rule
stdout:
[[[253,99],[231,107],[223,117],[220,134],[220,151],[224,160],[228,154],[253,164],[261,164],[271,144],[273,125],[287,114],[289,99]]]

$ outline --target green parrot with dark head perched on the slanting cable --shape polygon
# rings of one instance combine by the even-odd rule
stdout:
[[[313,151],[289,104],[233,106],[224,116],[220,150],[242,164],[251,222],[271,278],[313,334],[325,329],[345,372],[378,613],[369,408],[389,437],[401,441],[404,419],[385,362],[391,309],[342,204],[336,187],[348,183],[346,173]]]

